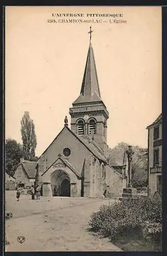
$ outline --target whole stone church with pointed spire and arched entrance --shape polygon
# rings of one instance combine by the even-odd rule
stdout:
[[[107,119],[90,42],[81,92],[64,127],[38,159],[42,196],[120,196],[128,182],[127,162],[109,166]]]

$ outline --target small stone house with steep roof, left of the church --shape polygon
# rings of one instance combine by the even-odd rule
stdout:
[[[20,163],[17,165],[14,178],[16,179],[16,185],[26,187],[32,185],[35,182],[35,174],[37,162],[20,159]]]

